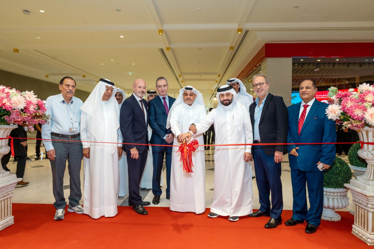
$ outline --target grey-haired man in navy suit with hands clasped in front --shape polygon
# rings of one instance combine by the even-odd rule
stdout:
[[[151,144],[173,145],[174,135],[170,128],[166,129],[166,120],[175,98],[168,95],[168,81],[165,77],[156,79],[156,90],[159,95],[148,102],[149,126],[152,128]],[[171,174],[171,152],[172,146],[152,146],[153,154],[153,178],[152,193],[154,195],[152,203],[160,203],[160,180],[162,174],[163,159],[166,154],[166,199],[170,199],[170,174]]]

